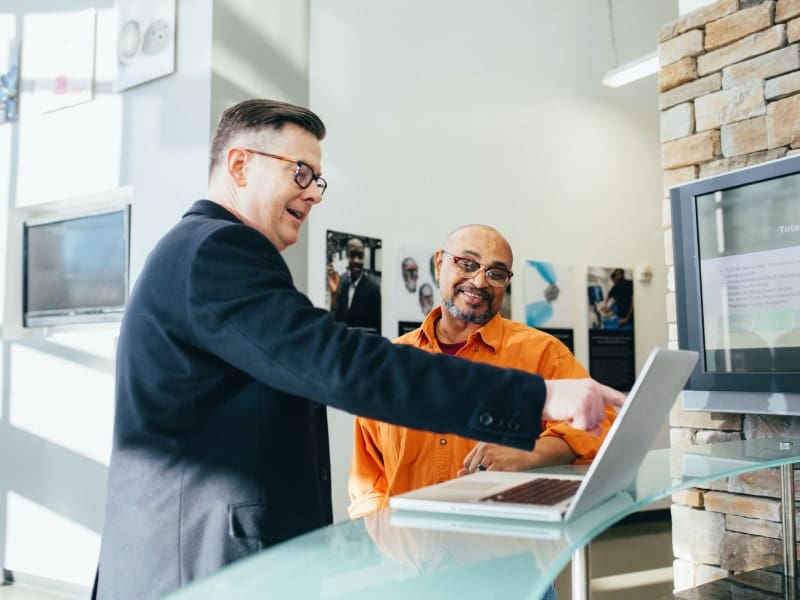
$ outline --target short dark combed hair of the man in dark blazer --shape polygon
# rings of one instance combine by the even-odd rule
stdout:
[[[211,139],[209,174],[220,162],[231,139],[242,132],[258,133],[265,129],[280,131],[286,123],[302,127],[318,140],[325,137],[325,124],[317,115],[302,106],[277,100],[245,100],[226,109]]]

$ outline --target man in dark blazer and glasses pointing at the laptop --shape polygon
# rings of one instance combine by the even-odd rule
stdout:
[[[623,401],[589,379],[395,346],[312,306],[280,252],[322,200],[324,135],[301,107],[226,110],[208,199],[138,277],[117,351],[99,598],[160,598],[329,524],[326,404],[529,449],[543,418],[592,429]]]

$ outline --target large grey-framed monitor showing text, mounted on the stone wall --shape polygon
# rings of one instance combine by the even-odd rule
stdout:
[[[800,156],[670,196],[684,408],[800,414]]]

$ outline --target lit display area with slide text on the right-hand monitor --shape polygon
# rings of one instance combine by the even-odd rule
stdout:
[[[800,371],[800,174],[696,198],[705,368]]]

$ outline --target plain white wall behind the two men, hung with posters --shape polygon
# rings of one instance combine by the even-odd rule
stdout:
[[[509,239],[518,268],[526,258],[573,265],[574,289],[585,289],[587,265],[652,265],[653,283],[636,287],[638,365],[666,344],[656,82],[601,86],[614,63],[605,2],[311,6],[311,107],[330,132],[330,188],[309,227],[316,303],[326,229],[383,240],[384,334],[394,336],[395,248],[488,223]],[[615,2],[615,16],[624,62],[652,51],[677,15],[664,0]],[[586,364],[582,298],[576,354]],[[335,516],[345,518],[352,418],[330,420]]]

